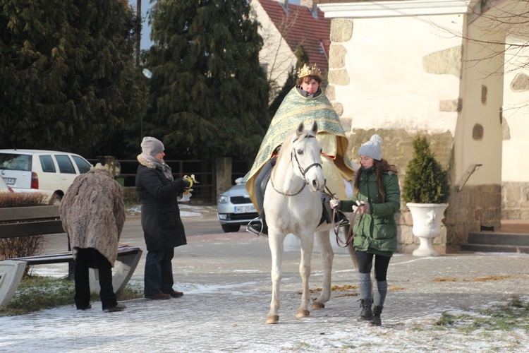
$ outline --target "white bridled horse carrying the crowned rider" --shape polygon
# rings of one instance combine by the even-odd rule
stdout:
[[[325,187],[322,172],[322,148],[316,137],[317,123],[305,130],[301,123],[290,133],[279,152],[265,192],[263,208],[267,215],[268,237],[272,252],[272,301],[266,323],[279,321],[279,287],[281,285],[281,263],[283,261],[284,239],[288,233],[300,239],[300,275],[303,281],[301,305],[296,317],[310,315],[309,277],[310,260],[316,237],[322,252],[324,265],[322,292],[311,309],[323,309],[331,297],[331,271],[334,252],[329,239],[332,224],[323,223],[320,192]]]

